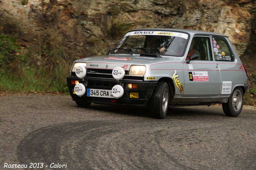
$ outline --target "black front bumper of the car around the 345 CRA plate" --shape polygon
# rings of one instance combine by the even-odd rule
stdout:
[[[71,80],[78,80],[79,83],[83,83],[86,89],[105,89],[111,90],[112,87],[118,82],[112,79],[97,79],[97,78],[84,78],[81,80],[77,77],[67,77],[67,84],[69,94],[72,99],[75,101],[84,101],[92,102],[96,104],[119,104],[119,105],[137,105],[137,106],[146,106],[152,96],[152,93],[156,87],[157,81],[130,81],[124,80],[122,82],[124,88],[124,95],[118,99],[116,98],[104,98],[104,97],[87,97],[86,93],[82,97],[78,97],[76,94],[73,94],[73,89],[75,85],[71,85]],[[133,83],[138,84],[138,89],[128,89],[127,84]],[[129,98],[130,92],[139,93],[139,99]]]

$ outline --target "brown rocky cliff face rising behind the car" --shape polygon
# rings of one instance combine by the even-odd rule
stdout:
[[[26,33],[47,31],[50,43],[59,37],[84,57],[110,50],[130,29],[152,27],[225,34],[242,55],[256,31],[255,6],[255,0],[0,0],[0,12]]]

